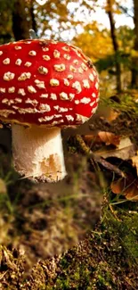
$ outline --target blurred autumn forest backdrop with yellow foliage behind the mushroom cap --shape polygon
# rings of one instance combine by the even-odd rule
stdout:
[[[97,18],[109,16],[109,29],[95,20],[97,10]],[[29,29],[37,37],[71,41],[95,62],[101,88],[103,84],[110,94],[138,86],[137,0],[130,10],[134,29],[116,27],[116,17],[129,14],[126,0],[0,0],[0,42],[28,38]]]

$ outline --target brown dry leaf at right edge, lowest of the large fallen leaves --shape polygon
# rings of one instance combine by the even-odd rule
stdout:
[[[127,200],[138,201],[138,178],[127,176],[119,178],[110,185],[111,191],[116,195],[125,195]]]

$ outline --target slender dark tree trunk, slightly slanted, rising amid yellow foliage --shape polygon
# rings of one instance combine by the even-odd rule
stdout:
[[[110,35],[111,35],[112,44],[114,47],[115,57],[116,57],[117,90],[118,90],[118,92],[120,92],[121,91],[121,67],[120,67],[120,63],[118,62],[119,47],[118,47],[118,41],[117,41],[117,36],[116,36],[115,21],[113,18],[113,13],[111,11],[112,4],[111,4],[110,0],[107,0],[107,4],[108,4],[107,13],[108,13],[109,19],[110,19]]]

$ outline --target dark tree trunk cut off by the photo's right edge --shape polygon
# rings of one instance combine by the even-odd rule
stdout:
[[[134,50],[138,54],[138,1],[134,0]],[[138,88],[138,56],[133,58],[131,87]]]

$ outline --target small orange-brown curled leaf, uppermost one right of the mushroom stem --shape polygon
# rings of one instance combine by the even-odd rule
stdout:
[[[101,138],[101,141],[106,145],[119,145],[120,136],[115,135],[114,133],[101,131],[98,133],[98,136]]]

